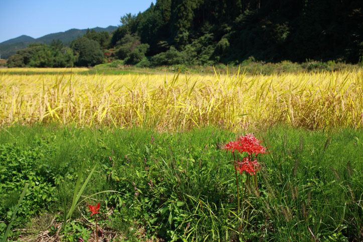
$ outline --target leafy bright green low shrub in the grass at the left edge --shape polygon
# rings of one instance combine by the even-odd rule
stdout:
[[[0,217],[6,223],[12,217],[25,183],[29,183],[29,188],[18,211],[18,222],[28,221],[41,208],[57,201],[55,188],[59,180],[48,164],[51,152],[42,141],[37,141],[26,149],[11,144],[0,146]]]

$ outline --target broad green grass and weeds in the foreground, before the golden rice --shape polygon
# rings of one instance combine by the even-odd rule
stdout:
[[[146,237],[166,241],[362,240],[362,131],[274,127],[250,132],[264,141],[269,153],[259,157],[259,191],[249,189],[250,204],[245,201],[239,228],[242,214],[236,214],[233,158],[216,149],[216,142],[229,142],[237,134],[216,128],[170,134],[56,125],[4,127],[0,234],[25,183],[30,185],[13,227],[29,228],[34,224],[31,217],[62,214],[63,204],[69,209],[85,161],[83,181],[95,165],[96,170],[84,196],[119,192],[92,197],[101,202],[100,223],[134,241],[141,229]],[[72,219],[82,219],[81,212],[90,219],[88,203],[96,201],[88,199]],[[62,220],[61,215],[56,218]],[[91,229],[74,220],[67,230],[73,234],[69,241],[86,238]],[[15,239],[20,231],[10,236]]]

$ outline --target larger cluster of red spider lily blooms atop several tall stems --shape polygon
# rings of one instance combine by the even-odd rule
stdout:
[[[260,164],[257,162],[256,159],[253,159],[252,154],[256,155],[258,154],[265,154],[266,148],[261,145],[261,141],[256,139],[256,137],[253,134],[247,134],[245,136],[239,137],[236,141],[231,141],[227,143],[224,148],[224,150],[230,150],[234,154],[234,151],[237,151],[238,153],[248,153],[248,157],[243,158],[242,161],[235,161],[236,170],[239,171],[241,174],[242,172],[247,172],[252,174],[255,174],[260,169]]]

